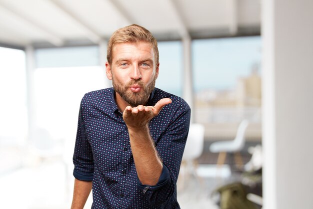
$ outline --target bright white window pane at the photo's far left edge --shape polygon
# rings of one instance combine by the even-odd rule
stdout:
[[[23,143],[27,131],[25,53],[0,47],[0,143]]]

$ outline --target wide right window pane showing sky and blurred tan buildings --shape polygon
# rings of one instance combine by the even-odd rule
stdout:
[[[234,137],[243,119],[247,137],[260,138],[260,62],[259,36],[192,42],[194,119],[206,138]]]

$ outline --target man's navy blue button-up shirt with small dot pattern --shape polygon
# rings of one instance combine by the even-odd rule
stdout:
[[[149,122],[163,169],[156,185],[142,185],[131,153],[127,127],[112,88],[89,92],[81,100],[73,155],[73,175],[92,181],[91,208],[179,208],[176,181],[185,146],[190,108],[183,99],[155,88],[147,106],[170,98]]]

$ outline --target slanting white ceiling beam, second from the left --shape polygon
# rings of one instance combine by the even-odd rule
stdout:
[[[87,38],[93,42],[94,44],[98,44],[101,40],[101,36],[91,29],[87,24],[85,24],[79,16],[75,15],[71,11],[69,11],[64,5],[62,5],[59,1],[56,0],[46,0],[51,2],[56,8],[62,11],[65,15],[67,15],[70,19],[72,19],[77,25],[79,25],[80,29],[83,30],[87,36]],[[78,4],[78,3],[77,3]]]

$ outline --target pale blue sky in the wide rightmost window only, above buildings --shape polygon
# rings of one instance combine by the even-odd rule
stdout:
[[[230,89],[237,77],[249,75],[260,62],[259,36],[196,40],[192,45],[194,88]]]

